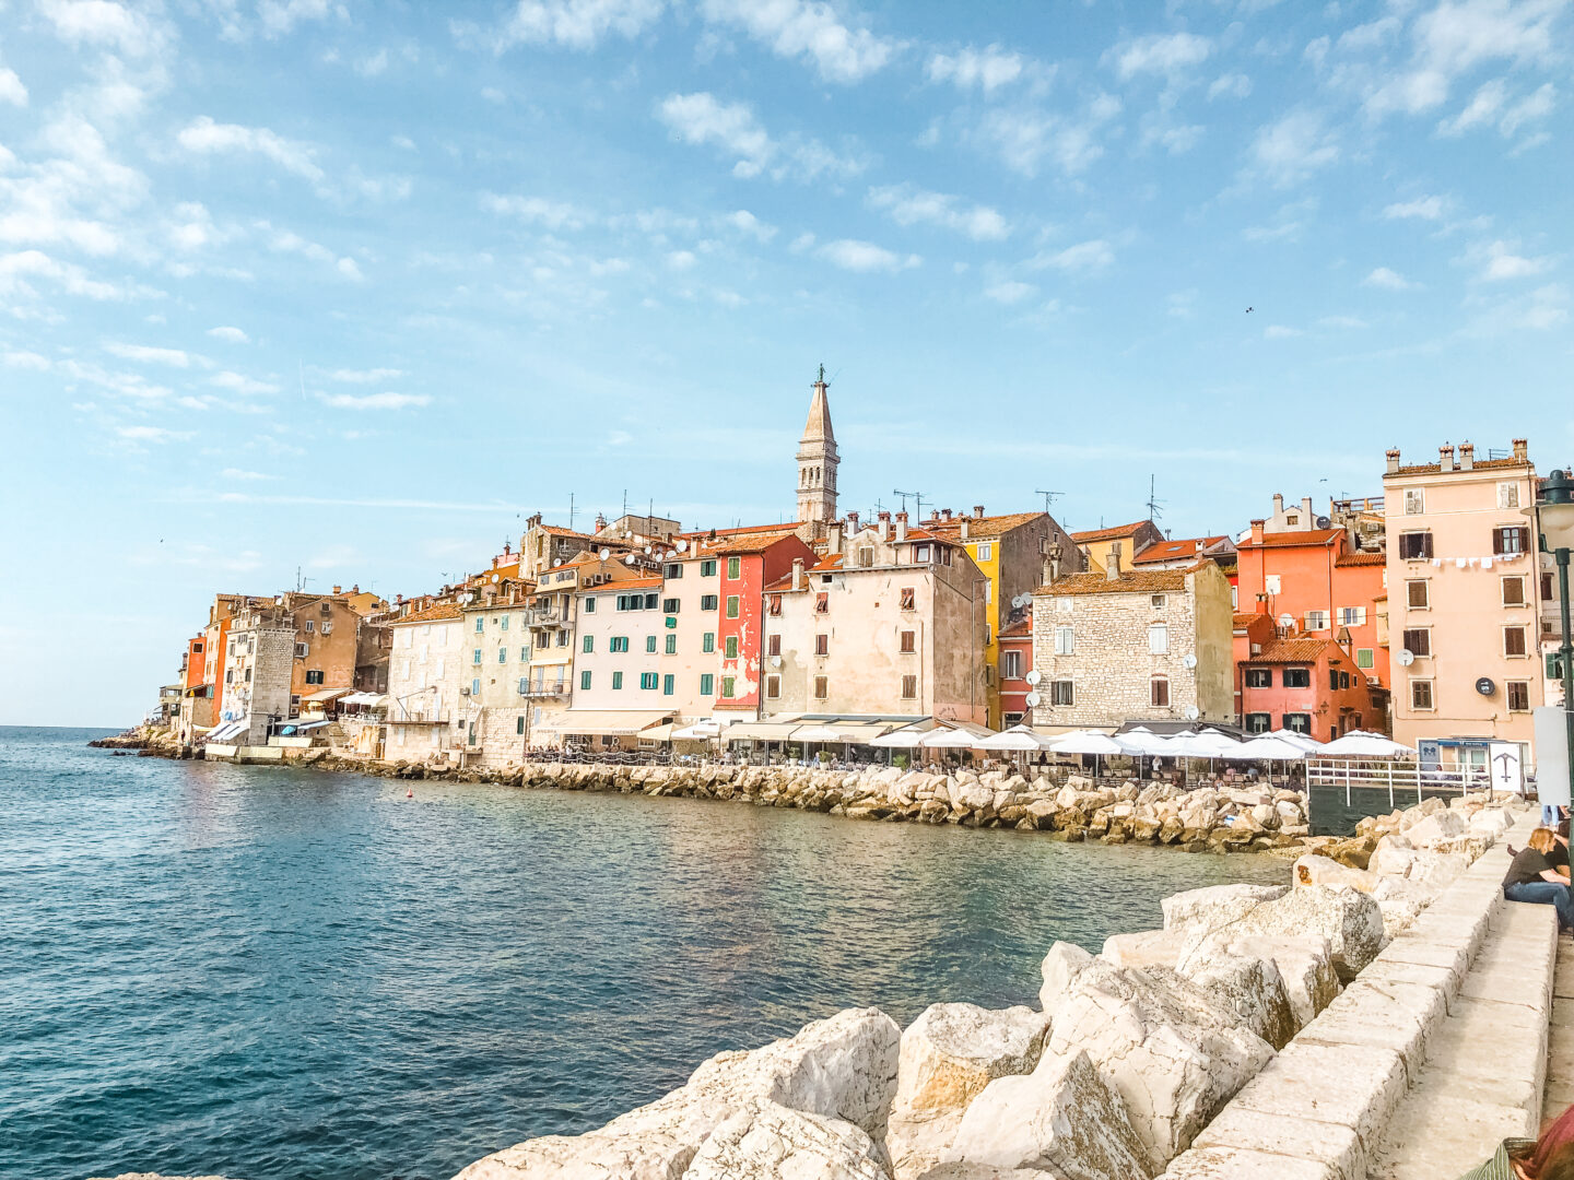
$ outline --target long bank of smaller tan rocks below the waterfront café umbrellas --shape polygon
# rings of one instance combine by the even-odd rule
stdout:
[[[367,769],[364,763],[343,765]],[[850,820],[1014,828],[1056,840],[1162,843],[1188,851],[1264,851],[1327,843],[1310,837],[1302,796],[1288,790],[1223,788],[1136,780],[1064,784],[1007,771],[937,774],[870,766],[831,771],[800,766],[611,766],[532,763],[461,768],[382,763],[398,779],[508,782],[538,790],[622,791],[730,799],[762,807],[829,812]]]

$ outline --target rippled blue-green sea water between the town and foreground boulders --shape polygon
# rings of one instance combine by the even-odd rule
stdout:
[[[0,1177],[441,1180],[842,1007],[1283,861],[408,784],[0,728]]]

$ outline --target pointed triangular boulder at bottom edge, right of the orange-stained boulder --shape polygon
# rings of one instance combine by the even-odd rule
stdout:
[[[1086,1053],[1045,1057],[992,1081],[962,1119],[946,1160],[1028,1167],[1067,1180],[1146,1180],[1147,1149]]]

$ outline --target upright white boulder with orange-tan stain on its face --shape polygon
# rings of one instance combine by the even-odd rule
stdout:
[[[1050,1018],[1029,1007],[992,1012],[935,1004],[902,1034],[886,1149],[897,1180],[932,1167],[968,1104],[995,1078],[1039,1062]]]

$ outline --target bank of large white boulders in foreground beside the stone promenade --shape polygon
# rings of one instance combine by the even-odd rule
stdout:
[[[1336,1020],[1390,935],[1508,826],[1500,804],[1410,809],[1373,868],[1303,856],[1291,884],[1169,897],[1162,930],[1111,936],[1097,955],[1056,942],[1036,1009],[935,1004],[905,1031],[875,1009],[842,1012],[458,1180],[1210,1175],[1206,1156],[1180,1153],[1209,1142],[1300,1029]]]

